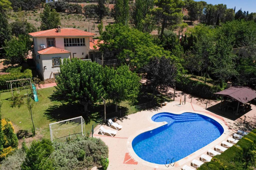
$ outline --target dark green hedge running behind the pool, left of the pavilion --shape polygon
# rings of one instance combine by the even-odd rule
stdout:
[[[222,91],[219,86],[209,86],[200,81],[191,80],[190,77],[181,77],[176,82],[176,87],[191,95],[196,95],[202,98],[216,99],[218,96],[214,93]]]

